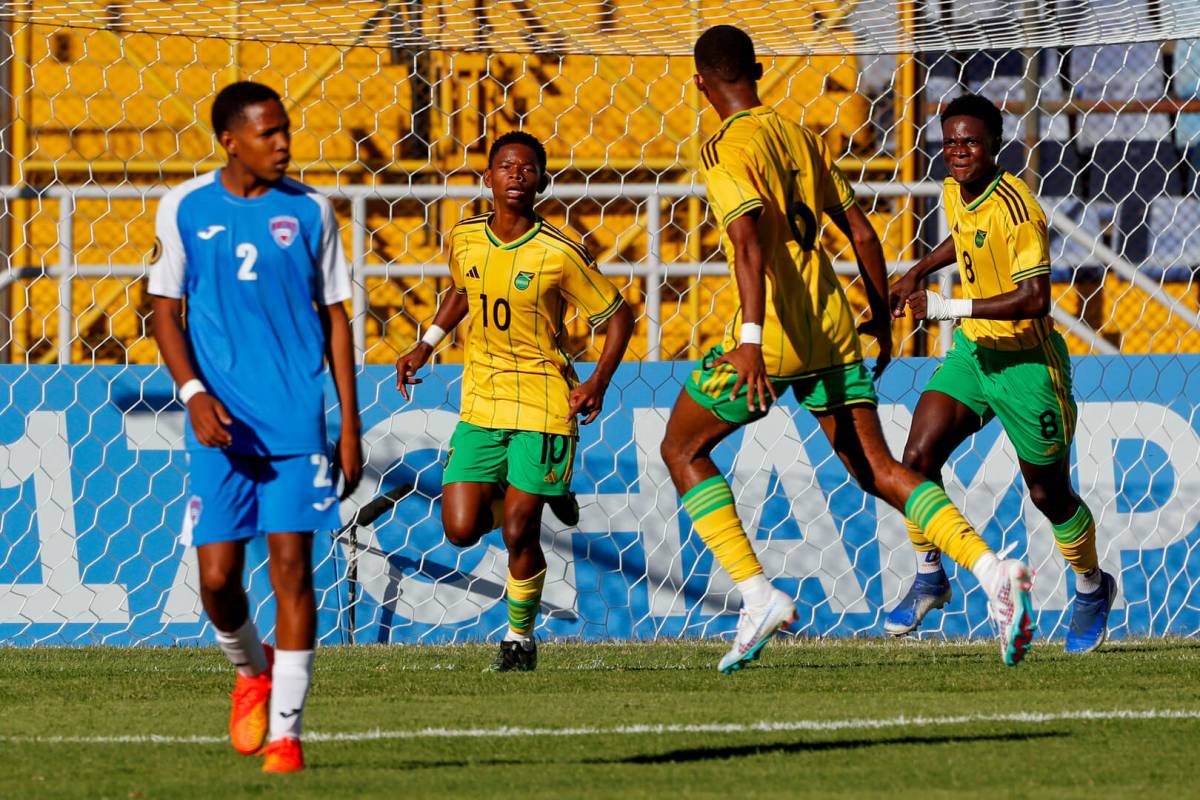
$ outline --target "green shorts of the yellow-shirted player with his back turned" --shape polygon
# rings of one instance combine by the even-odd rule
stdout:
[[[738,373],[727,363],[714,366],[722,355],[725,350],[720,345],[708,351],[684,384],[688,393],[716,419],[731,425],[748,425],[767,416],[766,411],[751,411],[746,408],[745,386],[738,390],[737,397],[730,397],[733,384],[738,381]],[[772,378],[770,385],[776,396],[791,387],[800,405],[815,414],[832,411],[844,405],[878,404],[875,383],[862,361],[797,378]],[[770,402],[770,397],[767,397],[767,403]]]

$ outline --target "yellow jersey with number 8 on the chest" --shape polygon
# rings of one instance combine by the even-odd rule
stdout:
[[[995,297],[1016,284],[1050,272],[1046,215],[1020,178],[1001,170],[973,203],[962,201],[958,181],[942,187],[946,218],[954,237],[962,293],[971,299]],[[964,319],[962,332],[992,350],[1025,350],[1050,336],[1050,317],[1000,320]]]

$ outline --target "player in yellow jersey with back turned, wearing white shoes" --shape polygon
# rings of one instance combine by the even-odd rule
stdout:
[[[762,66],[749,36],[718,25],[696,42],[695,56],[696,85],[722,120],[701,156],[739,308],[679,393],[662,458],[692,527],[742,594],[733,646],[718,668],[728,673],[756,658],[796,615],[793,599],[763,576],[710,457],[786,389],[817,416],[864,489],[979,576],[1002,631],[1002,657],[1018,663],[1033,633],[1028,569],[1001,561],[941,487],[898,463],[883,439],[854,315],[820,241],[826,213],[853,245],[871,307],[859,330],[880,344],[877,374],[892,354],[892,329],[883,251],[870,221],[821,138],[762,104]]]

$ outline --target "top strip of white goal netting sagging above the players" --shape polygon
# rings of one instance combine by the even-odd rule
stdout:
[[[547,54],[690,55],[696,34],[722,23],[738,25],[761,52],[774,54],[1063,47],[1164,40],[1200,30],[1200,8],[1190,0],[80,0],[5,5],[6,16],[20,22],[158,36]]]

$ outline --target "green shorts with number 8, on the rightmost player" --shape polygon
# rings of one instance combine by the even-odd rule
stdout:
[[[954,347],[925,391],[949,395],[986,423],[998,416],[1016,456],[1028,464],[1052,464],[1070,453],[1075,398],[1070,357],[1057,332],[1027,350],[991,350],[954,331]]]

